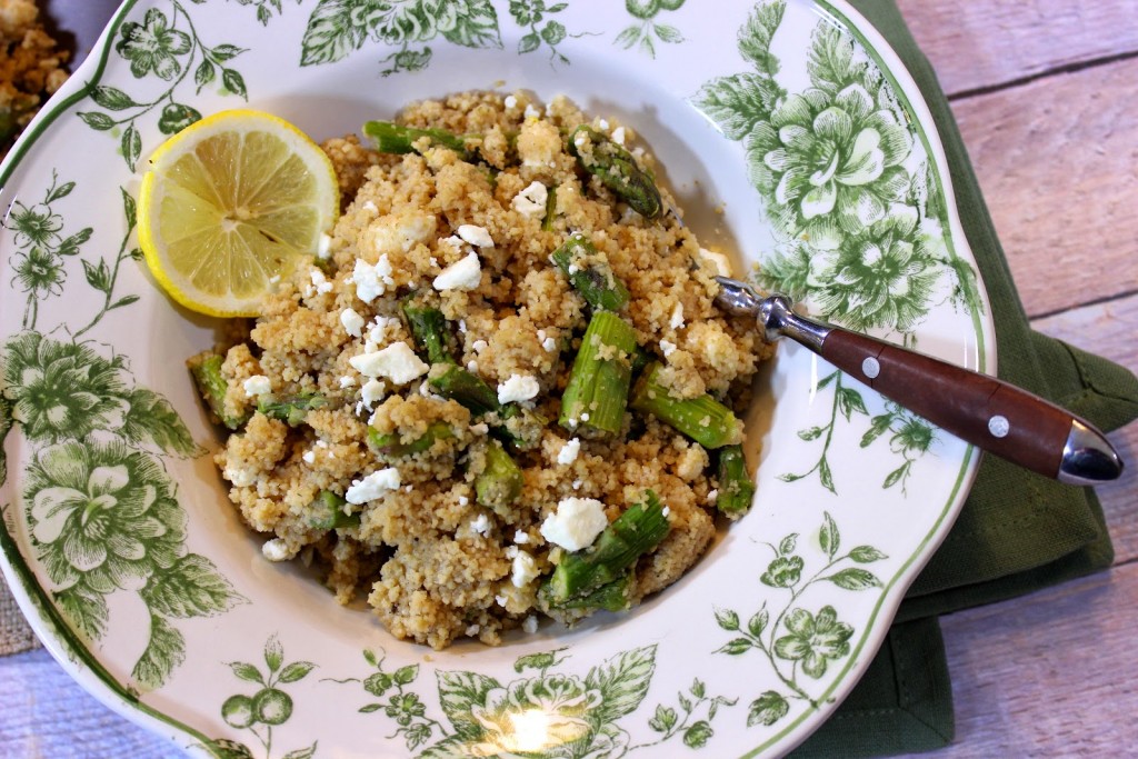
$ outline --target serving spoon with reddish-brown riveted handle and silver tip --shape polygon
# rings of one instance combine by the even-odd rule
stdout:
[[[1009,385],[794,312],[783,295],[760,296],[728,277],[716,277],[716,304],[754,316],[773,343],[789,337],[881,395],[947,432],[1033,472],[1070,485],[1116,479],[1122,460],[1085,419]]]

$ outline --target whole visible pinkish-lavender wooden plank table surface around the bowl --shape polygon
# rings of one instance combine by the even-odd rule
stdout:
[[[899,1],[949,93],[1032,324],[1138,371],[1136,1]],[[923,756],[1138,753],[1138,424],[1111,439],[1131,463],[1098,490],[1114,566],[945,617],[956,742]],[[0,659],[0,704],[3,757],[172,753],[42,649]]]

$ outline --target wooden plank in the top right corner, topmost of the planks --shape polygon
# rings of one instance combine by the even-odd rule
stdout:
[[[1138,51],[1133,0],[898,0],[949,94]]]

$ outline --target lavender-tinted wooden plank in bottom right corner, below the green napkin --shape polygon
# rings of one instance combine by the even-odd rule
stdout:
[[[1130,563],[945,617],[956,741],[916,757],[1131,756],[1135,608]]]

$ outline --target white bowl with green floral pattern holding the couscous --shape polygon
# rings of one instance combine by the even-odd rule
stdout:
[[[752,511],[674,587],[571,630],[396,641],[266,562],[229,505],[183,366],[216,324],[139,261],[146,156],[225,108],[324,139],[469,89],[635,126],[764,288],[993,371],[929,110],[840,0],[130,0],[0,168],[8,580],[80,683],[191,754],[789,751],[865,670],[978,460],[793,346],[748,420]]]

